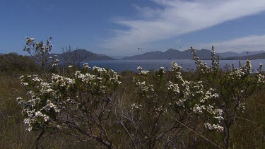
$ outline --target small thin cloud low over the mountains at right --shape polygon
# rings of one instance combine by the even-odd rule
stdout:
[[[199,44],[196,48],[211,48],[214,45],[216,52],[260,51],[265,49],[264,41],[265,35],[249,35],[223,42]]]

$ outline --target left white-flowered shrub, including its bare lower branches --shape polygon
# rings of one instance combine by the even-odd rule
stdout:
[[[84,66],[88,68],[88,64]],[[110,117],[112,94],[120,83],[116,72],[95,66],[93,73],[76,71],[71,78],[52,74],[50,81],[37,75],[21,76],[20,79],[28,90],[28,99],[18,97],[28,131],[59,129],[71,133],[71,129],[76,129],[110,145],[101,133],[88,130],[103,129],[103,121]]]

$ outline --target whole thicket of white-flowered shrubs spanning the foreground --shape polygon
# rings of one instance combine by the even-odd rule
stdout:
[[[42,58],[42,68],[49,68],[45,58],[51,50],[49,43],[27,38],[28,52],[42,50],[35,54]],[[82,71],[69,66],[69,73],[62,74],[55,70],[55,60],[52,68],[57,73],[46,78],[20,77],[28,96],[18,97],[24,122],[28,131],[42,131],[37,143],[45,132],[58,131],[107,148],[182,148],[190,132],[201,136],[199,131],[218,131],[229,148],[237,114],[244,111],[247,97],[261,88],[265,79],[261,66],[252,74],[249,60],[245,66],[222,71],[212,51],[208,67],[192,48],[198,74],[192,81],[182,77],[175,62],[167,72],[160,68],[150,73],[139,66],[139,74],[129,78],[135,86],[131,91],[136,93],[130,100],[117,96],[115,90],[122,89],[116,72],[99,67],[90,71],[84,64]],[[213,145],[220,148],[223,143]]]

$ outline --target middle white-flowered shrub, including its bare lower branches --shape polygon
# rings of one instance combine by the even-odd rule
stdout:
[[[163,68],[153,77],[141,67],[138,69],[134,84],[139,100],[131,104],[129,111],[122,112],[120,121],[135,148],[172,147],[187,127],[196,129],[200,122],[207,129],[223,131],[223,110],[215,105],[218,94],[213,89],[205,90],[201,82],[184,81],[181,67],[175,62],[170,71],[174,77],[169,81],[165,81]]]

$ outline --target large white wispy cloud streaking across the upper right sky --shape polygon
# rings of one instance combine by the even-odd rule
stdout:
[[[153,0],[161,8],[141,8],[141,18],[115,20],[128,29],[114,31],[103,47],[112,52],[141,47],[160,40],[177,37],[187,32],[209,28],[213,25],[265,10],[264,0]],[[125,51],[124,51],[125,50]]]

